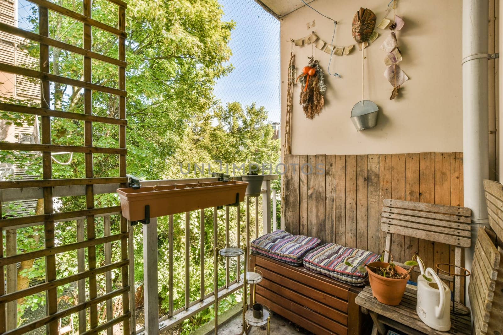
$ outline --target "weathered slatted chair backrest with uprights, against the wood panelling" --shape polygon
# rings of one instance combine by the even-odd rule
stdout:
[[[437,205],[423,202],[384,199],[381,230],[386,232],[386,250],[391,251],[392,235],[420,238],[455,247],[454,264],[462,266],[463,248],[471,245],[471,210],[467,207]],[[421,256],[421,255],[420,255]],[[385,262],[389,255],[385,255]],[[394,262],[400,265],[397,262]],[[414,269],[417,270],[418,269]],[[456,268],[456,273],[461,270]],[[453,281],[451,276],[439,274],[441,279]],[[455,301],[460,301],[460,280],[455,281]]]

